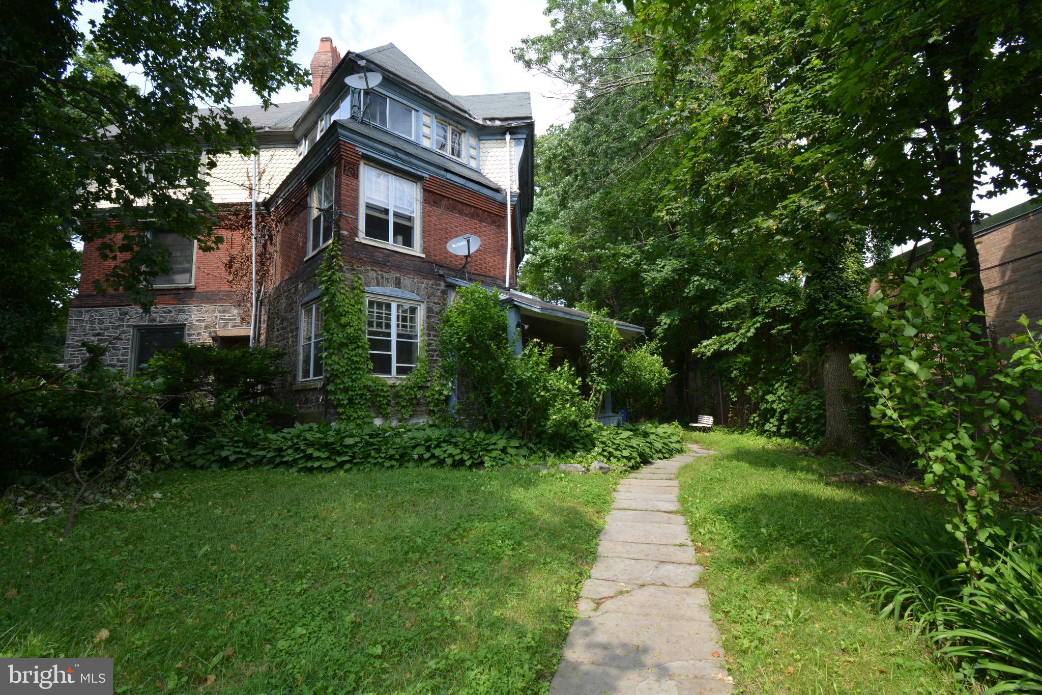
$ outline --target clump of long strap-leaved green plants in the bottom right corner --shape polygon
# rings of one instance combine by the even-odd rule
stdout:
[[[963,545],[931,516],[874,539],[865,596],[895,624],[912,624],[958,659],[989,692],[1042,691],[1042,523],[1003,524],[982,552],[977,578],[962,571]]]

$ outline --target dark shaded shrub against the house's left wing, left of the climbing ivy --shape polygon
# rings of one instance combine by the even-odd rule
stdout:
[[[275,381],[287,373],[282,356],[272,348],[182,343],[153,355],[142,375],[163,384],[171,398],[168,409],[189,437],[208,437],[244,420],[277,426],[292,421],[293,407],[273,398]]]

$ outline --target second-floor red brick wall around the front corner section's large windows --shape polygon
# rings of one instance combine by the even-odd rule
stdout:
[[[337,205],[342,212],[340,228],[344,232],[344,255],[350,263],[378,270],[438,277],[441,270],[454,275],[463,265],[445,244],[461,234],[473,233],[481,239],[481,248],[467,267],[469,277],[489,283],[502,284],[506,262],[506,205],[468,189],[433,176],[422,182],[423,208],[421,234],[424,257],[383,249],[356,241],[358,215],[358,177],[362,157],[353,146],[341,143],[336,153],[337,176],[340,181]],[[276,283],[297,272],[307,254],[308,210],[306,187],[301,184],[288,195],[280,206],[284,221],[277,243]],[[515,216],[516,220],[516,216]],[[517,255],[517,250],[515,250]],[[511,282],[517,281],[518,258],[513,259]]]

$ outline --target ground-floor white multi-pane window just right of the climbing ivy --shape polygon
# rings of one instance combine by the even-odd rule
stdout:
[[[373,374],[404,376],[416,368],[422,320],[421,304],[369,297],[366,337]]]

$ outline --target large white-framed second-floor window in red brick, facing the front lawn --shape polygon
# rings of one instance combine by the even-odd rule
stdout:
[[[362,167],[362,234],[419,250],[419,184],[370,165]]]

